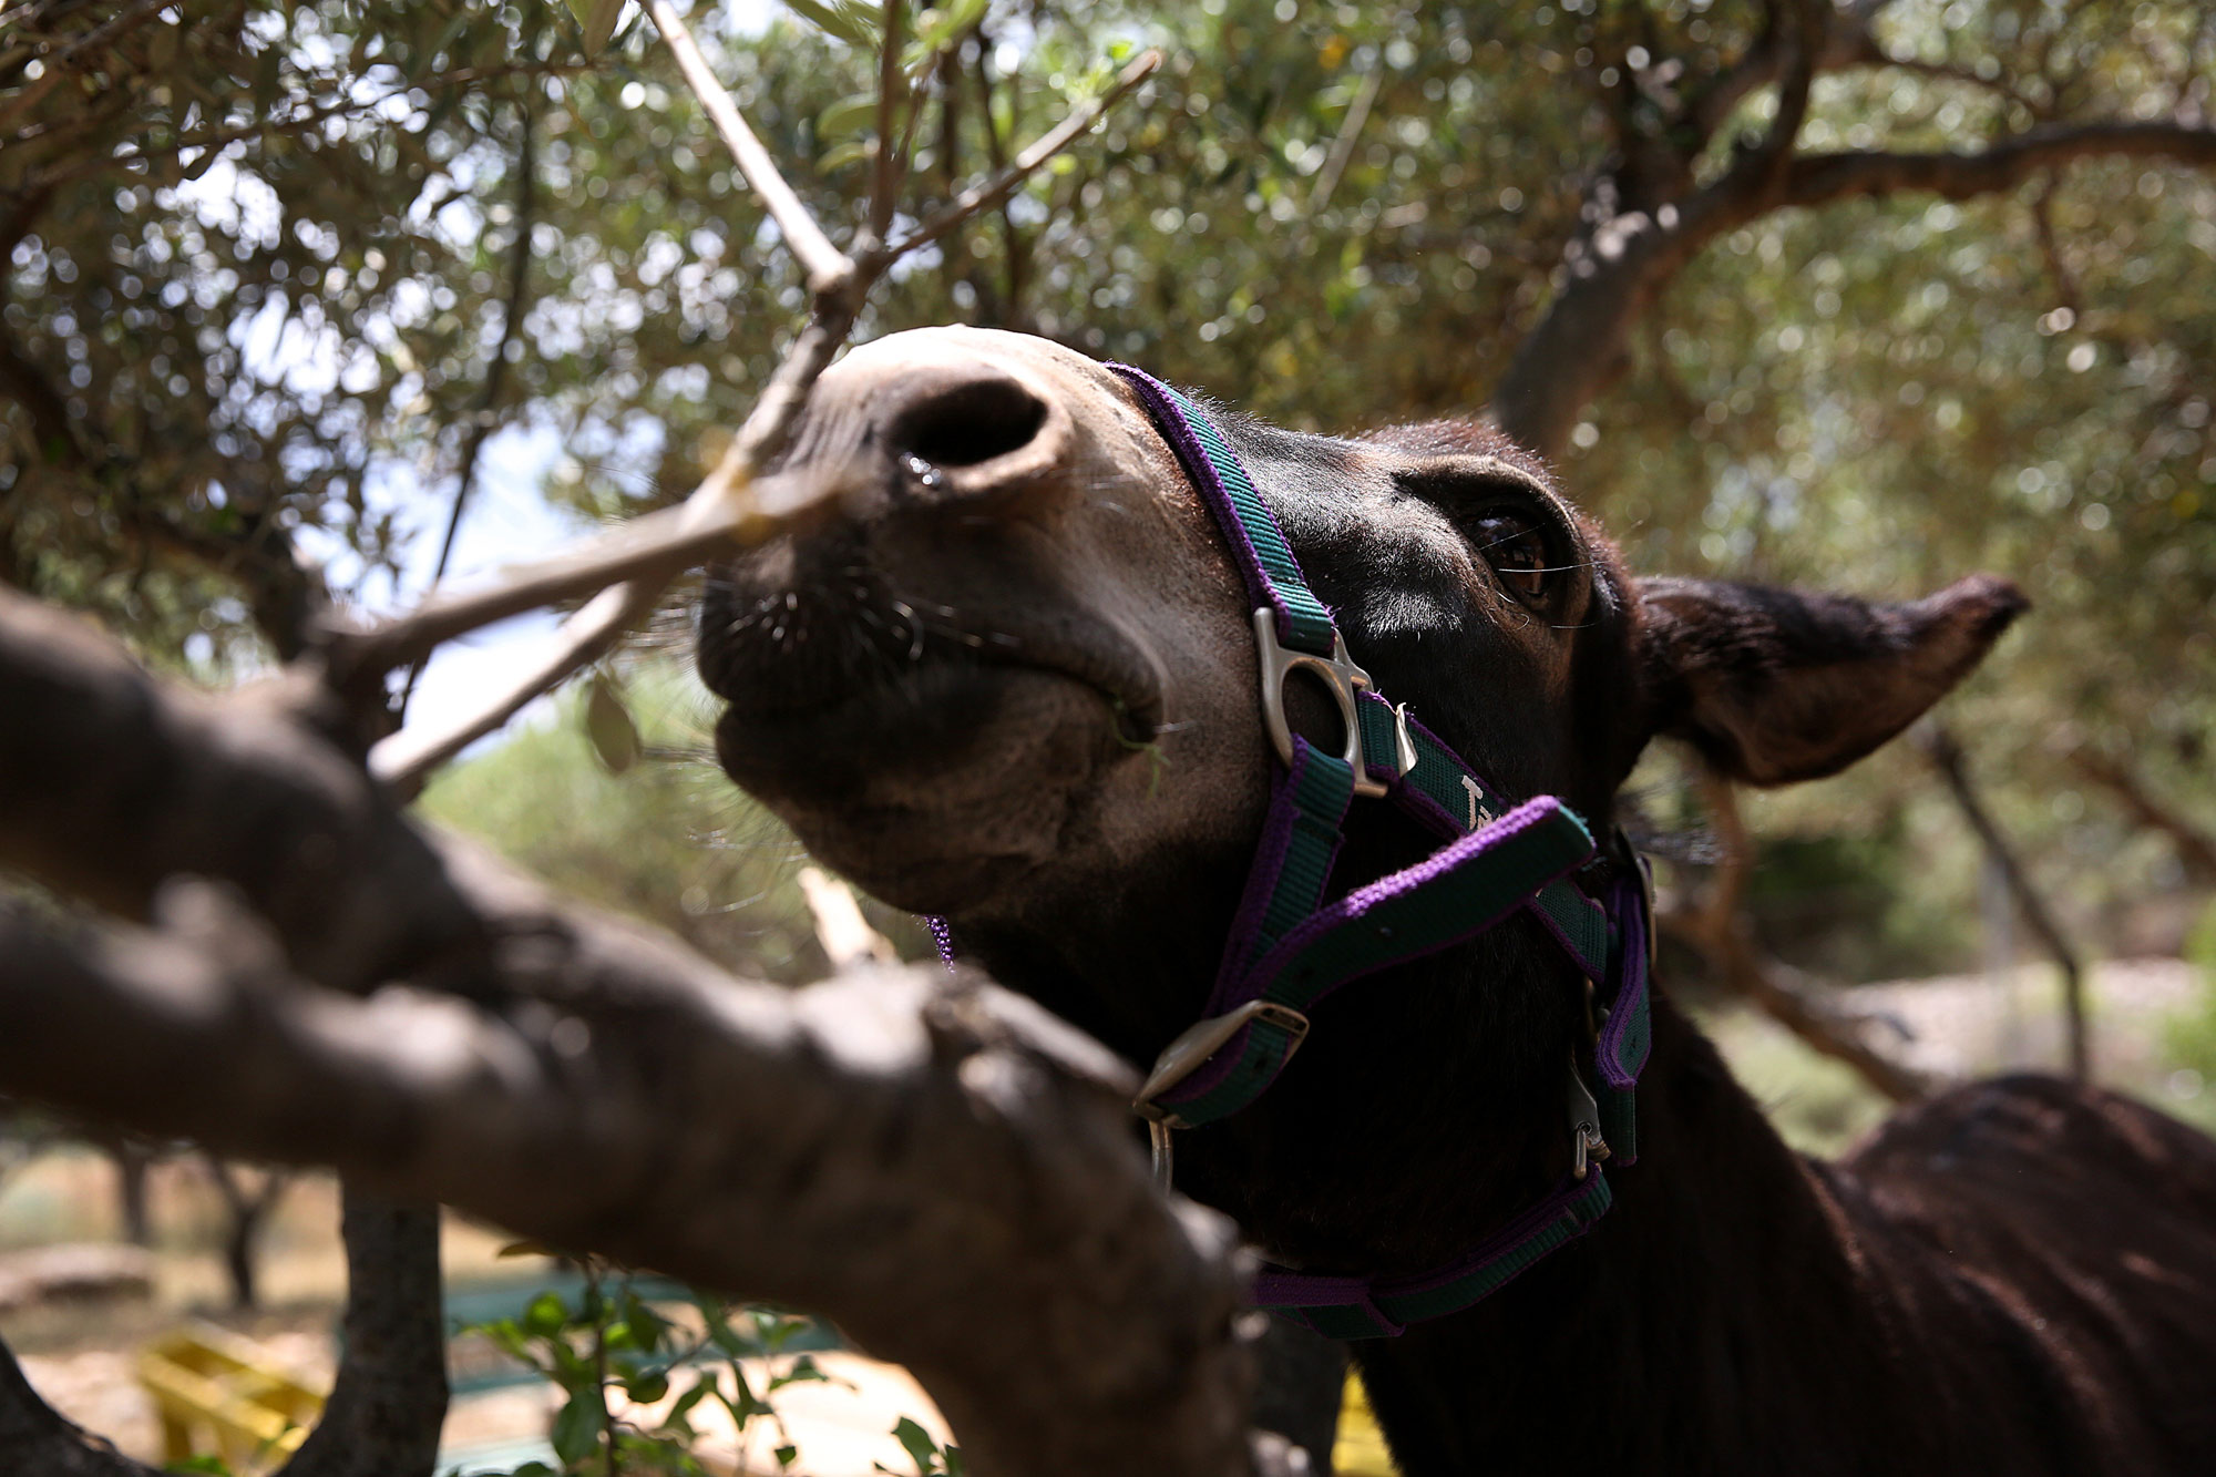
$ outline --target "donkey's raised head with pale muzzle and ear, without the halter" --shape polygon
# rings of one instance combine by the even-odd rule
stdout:
[[[1217,421],[1378,692],[1509,798],[1562,796],[1596,834],[1655,734],[1755,783],[1828,774],[2023,608],[1994,579],[1906,605],[1638,581],[1483,428]],[[827,373],[787,466],[831,479],[842,512],[709,579],[725,767],[818,856],[1150,1060],[1201,1011],[1276,772],[1250,599],[1163,430],[1077,353],[935,328]],[[1330,701],[1296,683],[1287,710],[1338,750]],[[1338,887],[1438,845],[1354,805]],[[1560,1093],[1540,1084],[1578,1016],[1560,954],[1509,925],[1432,969],[1436,987],[1327,1005],[1343,1020],[1319,1013],[1276,1111],[1343,1113],[1345,1082],[1374,1093],[1412,1049],[1445,1051],[1456,1091],[1498,1100],[1502,1164],[1518,1116],[1547,1138]]]

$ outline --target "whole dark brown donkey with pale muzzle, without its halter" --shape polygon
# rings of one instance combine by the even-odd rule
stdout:
[[[2023,608],[1988,577],[1897,605],[1631,579],[1485,430],[1219,421],[1378,690],[1600,836],[1655,734],[1753,783],[1830,774]],[[842,517],[709,581],[725,767],[1150,1062],[1201,1013],[1276,770],[1248,594],[1179,459],[1104,366],[946,328],[831,370],[789,466]],[[1334,887],[1436,845],[1354,801]],[[1356,980],[1270,1093],[1179,1138],[1177,1184],[1294,1266],[1445,1262],[1564,1178],[1582,1009],[1522,916]],[[1666,998],[1638,1098],[1591,1235],[1356,1346],[1412,1477],[2216,1473],[2207,1138],[2010,1078],[1810,1162]]]

